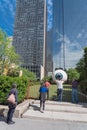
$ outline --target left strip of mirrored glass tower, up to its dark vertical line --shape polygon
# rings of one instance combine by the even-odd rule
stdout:
[[[63,0],[53,1],[53,68],[65,67]]]

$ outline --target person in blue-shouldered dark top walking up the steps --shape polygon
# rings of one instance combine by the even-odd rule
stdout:
[[[40,112],[44,112],[45,110],[45,101],[46,101],[46,94],[47,94],[47,87],[45,86],[45,83],[41,84],[41,87],[39,89],[39,99],[40,99]]]

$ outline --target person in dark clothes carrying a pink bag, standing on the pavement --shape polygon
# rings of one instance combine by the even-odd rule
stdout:
[[[14,94],[15,96],[15,103],[11,103],[8,102],[8,113],[7,113],[7,123],[8,124],[14,124],[15,122],[12,120],[13,118],[13,114],[15,112],[16,106],[17,106],[17,102],[18,102],[18,90],[17,90],[17,85],[16,84],[12,84],[12,89],[10,90],[7,98],[11,95]]]

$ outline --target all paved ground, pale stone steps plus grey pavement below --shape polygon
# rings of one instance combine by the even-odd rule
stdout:
[[[8,125],[6,117],[0,116],[0,130],[87,130],[87,104],[46,101],[46,110],[41,113],[39,101],[29,103],[25,101],[18,106],[28,110],[22,118],[13,118],[16,122],[13,125]]]

